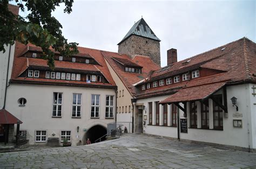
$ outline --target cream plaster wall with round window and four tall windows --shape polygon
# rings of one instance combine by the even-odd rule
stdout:
[[[63,93],[61,118],[52,117],[53,92]],[[73,93],[82,94],[81,118],[71,118]],[[99,118],[96,119],[91,118],[92,94],[100,95]],[[53,137],[52,133],[55,132],[54,137],[59,139],[60,131],[71,130],[71,142],[72,145],[76,145],[80,139],[83,139],[85,134],[83,129],[90,129],[98,124],[107,127],[107,123],[114,122],[114,118],[105,118],[106,95],[115,95],[114,89],[12,84],[8,88],[6,110],[23,122],[20,130],[27,131],[30,144],[40,144],[35,143],[36,130],[46,130],[47,137]],[[21,97],[27,100],[25,107],[18,106],[18,99]],[[116,98],[114,98],[114,112],[115,100]],[[77,126],[79,126],[78,133]],[[79,138],[76,138],[77,135]]]

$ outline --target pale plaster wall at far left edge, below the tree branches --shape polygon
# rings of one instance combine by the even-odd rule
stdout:
[[[11,78],[11,70],[12,70],[12,64],[14,62],[14,50],[15,45],[5,46],[5,52],[0,52],[0,109],[2,109],[4,104],[4,95],[5,95],[5,86],[6,86],[6,73],[8,68],[8,58],[10,54],[10,62],[9,62],[9,75],[8,75],[8,81]]]

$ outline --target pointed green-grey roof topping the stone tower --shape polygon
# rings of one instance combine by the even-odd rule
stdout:
[[[125,37],[117,45],[121,44],[123,41],[128,39],[130,36],[132,36],[132,34],[141,36],[141,37],[145,37],[145,38],[149,38],[149,39],[153,39],[153,40],[157,40],[157,41],[161,41],[156,36],[156,34],[154,34],[154,32],[150,29],[149,25],[147,25],[145,20],[142,18],[142,19],[139,19],[138,22],[136,22],[132,26],[130,31],[125,35]]]

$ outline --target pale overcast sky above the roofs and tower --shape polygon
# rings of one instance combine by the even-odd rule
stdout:
[[[69,42],[117,52],[117,44],[142,16],[178,60],[206,52],[242,37],[256,41],[256,1],[76,1],[70,15],[60,6],[53,13]]]

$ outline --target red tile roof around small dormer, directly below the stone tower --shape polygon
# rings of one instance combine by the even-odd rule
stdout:
[[[146,78],[152,70],[156,70],[159,68],[159,66],[154,64],[154,62],[149,57],[145,57],[142,55],[137,55],[136,57],[131,59],[128,55],[114,52],[102,51],[102,54],[104,55],[105,59],[110,64],[114,72],[116,72],[119,78],[123,81],[124,85],[130,91],[132,96],[137,96],[139,91],[138,88],[133,86],[133,84]],[[124,68],[120,64],[118,64],[117,61],[114,61],[112,57],[129,60],[129,62],[143,67],[142,73],[125,72]]]

